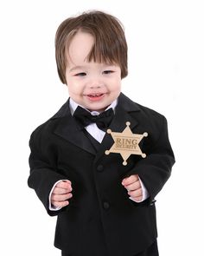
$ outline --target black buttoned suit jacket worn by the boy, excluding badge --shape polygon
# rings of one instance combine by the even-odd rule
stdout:
[[[92,147],[70,114],[69,101],[31,135],[29,187],[48,214],[58,215],[54,245],[70,255],[131,256],[156,240],[154,199],[175,162],[167,122],[163,115],[121,94],[110,128],[122,132],[126,121],[133,133],[148,132],[140,142],[147,157],[131,155],[126,166],[120,154],[105,155],[112,147],[111,135],[105,135],[97,151]],[[148,200],[129,199],[121,181],[131,174],[139,174]],[[50,211],[48,195],[61,179],[72,181],[73,198],[69,206]]]

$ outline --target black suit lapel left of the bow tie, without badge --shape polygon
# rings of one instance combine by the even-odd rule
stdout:
[[[86,150],[91,154],[96,154],[92,147],[91,141],[86,137],[83,128],[74,120],[70,113],[69,101],[62,106],[52,119],[59,119],[54,134],[61,136],[66,141],[73,143],[75,146]]]

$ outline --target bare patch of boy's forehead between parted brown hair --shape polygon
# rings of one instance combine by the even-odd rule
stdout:
[[[74,36],[67,49],[67,61],[79,64],[86,62],[86,57],[89,55],[94,39],[87,32],[78,31]]]

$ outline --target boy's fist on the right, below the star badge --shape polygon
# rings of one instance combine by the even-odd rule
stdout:
[[[137,174],[125,178],[122,185],[127,189],[132,200],[139,202],[143,199],[143,190]]]

